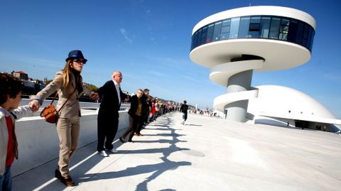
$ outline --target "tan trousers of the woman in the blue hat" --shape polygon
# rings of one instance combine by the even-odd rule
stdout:
[[[57,133],[60,147],[58,167],[62,176],[68,177],[70,158],[75,153],[80,137],[80,117],[58,119]]]

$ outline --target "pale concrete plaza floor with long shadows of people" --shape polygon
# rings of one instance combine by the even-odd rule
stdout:
[[[196,114],[180,121],[178,112],[159,117],[134,143],[116,139],[107,158],[97,142],[79,148],[75,187],[54,178],[55,159],[14,177],[13,190],[341,190],[339,135]]]

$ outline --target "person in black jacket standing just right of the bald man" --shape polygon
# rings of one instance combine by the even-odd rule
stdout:
[[[119,138],[119,141],[125,143],[126,136],[129,135],[128,141],[133,142],[131,138],[134,136],[134,132],[136,128],[141,123],[142,111],[144,107],[146,107],[146,102],[143,102],[141,97],[144,94],[142,89],[137,89],[136,95],[132,96],[130,99],[130,109],[128,111],[129,114],[129,128],[122,134]]]

